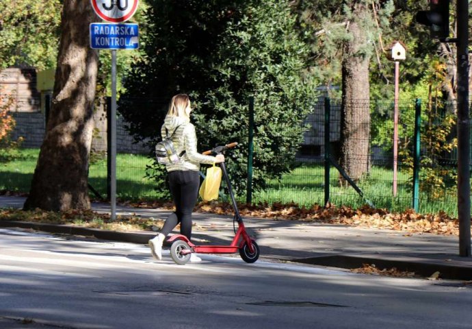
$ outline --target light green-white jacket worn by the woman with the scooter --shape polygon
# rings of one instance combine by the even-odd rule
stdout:
[[[172,143],[174,143],[177,154],[181,154],[184,150],[185,154],[181,156],[181,162],[166,164],[167,171],[199,171],[200,163],[213,164],[216,162],[214,156],[204,156],[198,153],[195,126],[190,123],[189,118],[166,116],[164,124],[161,127],[162,138],[166,136],[166,128],[168,130],[168,136],[170,136],[176,127],[179,128],[176,130],[174,136],[172,136]]]

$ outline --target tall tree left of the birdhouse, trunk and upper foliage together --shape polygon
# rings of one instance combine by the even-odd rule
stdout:
[[[299,3],[301,24],[315,29],[311,42],[319,76],[326,86],[341,84],[339,162],[353,180],[369,169],[369,68],[380,32],[378,17],[392,9],[391,0]]]

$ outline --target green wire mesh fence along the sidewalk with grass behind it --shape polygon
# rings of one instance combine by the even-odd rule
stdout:
[[[421,103],[419,100],[398,102],[396,193],[393,192],[395,104],[393,101],[370,101],[367,104],[371,112],[370,134],[366,136],[369,141],[369,161],[360,180],[356,180],[354,184],[339,184],[343,171],[339,168],[342,104],[339,99],[322,99],[306,105],[311,108],[311,114],[304,122],[309,129],[304,134],[304,142],[296,156],[296,169],[283,175],[281,180],[268,182],[264,191],[252,191],[251,202],[295,202],[304,206],[330,202],[337,206],[352,207],[367,203],[389,210],[445,210],[449,215],[456,215],[454,104],[431,101]],[[254,102],[254,115],[257,115],[257,99]],[[29,124],[31,122],[28,119],[17,120],[11,139],[18,138],[18,132],[27,135],[36,129],[29,127]],[[37,128],[44,132],[44,122],[42,127]],[[248,134],[249,131],[248,128]],[[122,133],[125,133],[124,130]],[[96,130],[95,134],[97,141],[106,141],[106,129]],[[24,137],[25,142],[20,149],[9,150],[5,144],[0,149],[0,190],[18,193],[29,191],[39,152],[37,145],[41,141],[35,144],[28,139],[33,137]],[[132,149],[135,146],[129,147]],[[125,151],[118,149],[118,198],[159,197],[153,181],[145,177],[146,166],[152,164],[153,159],[148,156],[145,147],[140,147],[135,152],[130,152],[129,147],[125,147]],[[356,149],[352,152],[355,154]],[[103,147],[102,151],[95,151],[92,156],[89,176],[92,197],[100,195],[106,198],[107,158]],[[248,195],[239,195],[239,200],[246,202],[247,197]]]

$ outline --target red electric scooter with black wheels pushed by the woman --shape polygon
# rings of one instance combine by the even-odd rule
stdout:
[[[217,146],[210,151],[203,152],[203,154],[223,154],[226,149],[230,149],[236,145],[237,143],[231,143],[224,146]],[[238,226],[237,230],[235,229],[235,237],[233,238],[231,245],[194,245],[194,243],[190,242],[186,236],[175,234],[168,239],[168,242],[172,243],[170,246],[170,256],[174,262],[179,265],[185,265],[188,263],[192,252],[200,254],[233,254],[239,252],[239,256],[241,256],[246,263],[254,263],[257,258],[259,258],[259,246],[256,241],[249,236],[248,232],[246,232],[244,221],[241,215],[239,215],[235,195],[233,194],[233,188],[231,188],[231,182],[228,178],[228,171],[226,171],[226,164],[221,162],[220,167],[223,172],[224,180],[226,181],[226,186],[228,186],[228,192],[235,210],[233,223],[237,221]]]

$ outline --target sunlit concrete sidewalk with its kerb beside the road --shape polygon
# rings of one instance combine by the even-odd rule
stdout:
[[[21,208],[24,197],[0,196],[0,208]],[[96,212],[110,212],[108,204],[92,204]],[[117,215],[139,215],[166,219],[169,210],[117,206]],[[458,256],[458,236],[411,234],[393,230],[355,228],[343,225],[305,223],[302,221],[245,217],[250,234],[255,237],[261,258],[292,261],[327,267],[354,269],[375,264],[379,269],[396,267],[440,278],[472,280],[472,258]],[[234,236],[233,217],[194,212],[195,243],[227,245]],[[22,227],[96,236],[98,239],[146,244],[155,232],[110,232],[40,223],[0,221],[3,227]],[[238,256],[239,255],[235,255]]]

